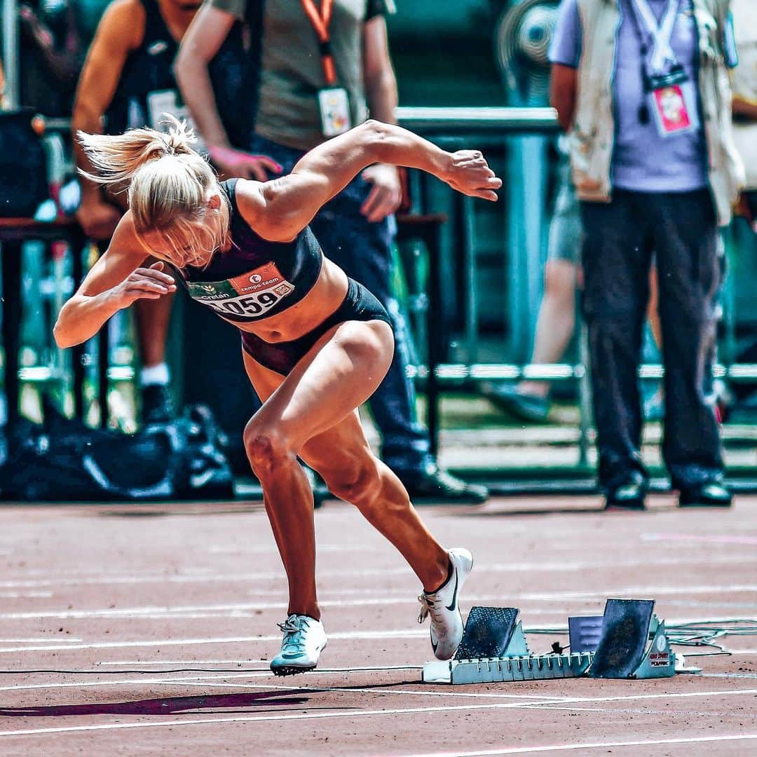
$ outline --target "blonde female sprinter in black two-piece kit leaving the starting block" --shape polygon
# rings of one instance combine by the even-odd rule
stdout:
[[[64,305],[61,347],[89,339],[117,310],[176,289],[241,331],[245,368],[263,407],[245,448],[289,585],[279,675],[315,668],[326,646],[316,599],[313,493],[298,457],[354,504],[402,553],[423,585],[439,659],[463,634],[458,592],[467,550],[431,536],[397,477],[371,452],[357,408],[389,368],[393,335],[382,305],[324,257],[308,223],[360,171],[388,163],[428,171],[473,197],[496,200],[502,182],[479,152],[447,153],[405,129],[369,121],[319,145],[289,176],[218,182],[173,121],[167,133],[79,133],[103,184],[128,184],[129,211],[111,245]],[[163,262],[142,267],[148,256]],[[219,387],[219,391],[229,391]]]

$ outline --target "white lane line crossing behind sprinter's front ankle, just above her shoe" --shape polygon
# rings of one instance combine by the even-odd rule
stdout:
[[[732,594],[732,593],[755,593],[757,594],[757,584],[731,584],[728,586],[710,584],[706,586],[644,586],[644,587],[615,587],[604,588],[592,591],[557,591],[557,592],[540,592],[540,593],[513,593],[506,596],[509,602],[525,601],[547,601],[566,599],[589,599],[592,597],[631,597],[631,596],[653,596],[659,597],[661,594],[675,594],[686,596],[687,594]],[[494,602],[502,600],[501,594],[477,594],[472,597],[466,597],[469,602]],[[413,604],[416,599],[409,594],[400,594],[394,597],[364,597],[350,600],[325,599],[322,605],[329,607],[363,607],[378,606],[385,604]],[[192,612],[236,612],[236,611],[255,611],[286,608],[285,602],[245,602],[245,603],[220,603],[220,604],[203,604],[203,605],[179,605],[179,606],[139,606],[139,607],[117,607],[117,608],[100,608],[100,609],[58,609],[45,610],[37,609],[24,612],[0,612],[0,619],[3,620],[30,620],[32,618],[133,618],[133,617],[153,617],[156,613],[161,617],[180,613]]]

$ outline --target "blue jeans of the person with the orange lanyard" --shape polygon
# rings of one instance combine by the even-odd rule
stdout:
[[[302,152],[254,136],[251,151],[272,157],[290,173]],[[394,360],[382,384],[370,399],[373,419],[382,435],[382,459],[392,469],[413,472],[433,462],[428,431],[416,418],[416,393],[407,377],[410,334],[391,288],[394,217],[369,223],[360,213],[371,186],[357,176],[310,223],[326,257],[347,276],[369,289],[391,316]]]

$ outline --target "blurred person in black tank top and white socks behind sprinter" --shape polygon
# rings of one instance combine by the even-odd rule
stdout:
[[[74,134],[160,128],[164,113],[183,115],[171,67],[199,5],[193,0],[115,0],[108,6],[79,79],[71,120]],[[76,166],[91,173],[86,153],[73,142]],[[76,218],[90,238],[107,242],[126,210],[126,195],[106,192],[85,177],[80,180]],[[172,299],[135,304],[143,423],[166,422],[173,416],[166,363]]]

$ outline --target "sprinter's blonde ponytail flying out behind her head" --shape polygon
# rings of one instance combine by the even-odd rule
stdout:
[[[123,134],[86,134],[77,132],[95,173],[79,169],[79,173],[98,184],[128,184],[136,171],[150,160],[165,155],[197,155],[192,144],[197,142],[195,132],[185,121],[170,114],[161,123],[170,123],[168,132],[156,129],[129,129]],[[199,157],[197,155],[197,157]]]

